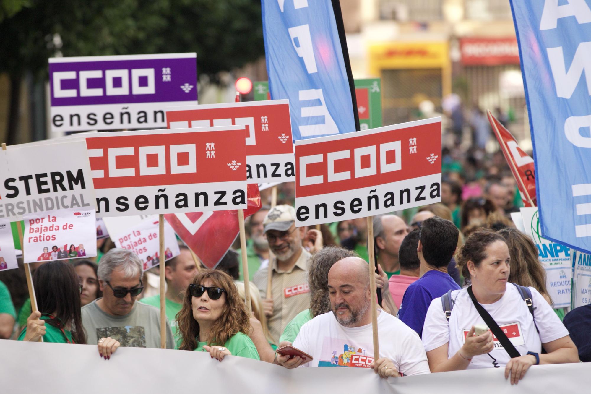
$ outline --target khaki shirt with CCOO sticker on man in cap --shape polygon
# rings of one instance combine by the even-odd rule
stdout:
[[[273,259],[272,267],[272,297],[273,315],[267,318],[267,325],[275,344],[279,344],[279,337],[285,326],[298,313],[310,308],[310,288],[308,287],[308,260],[310,253],[302,248],[296,265],[289,271],[277,269],[277,259]],[[267,275],[269,267],[256,272],[252,282],[259,288],[261,297],[267,296]]]

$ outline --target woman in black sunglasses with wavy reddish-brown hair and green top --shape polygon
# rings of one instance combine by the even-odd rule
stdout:
[[[224,356],[259,360],[248,337],[250,319],[232,278],[219,270],[202,270],[194,277],[177,315],[180,350],[208,351],[212,359]]]

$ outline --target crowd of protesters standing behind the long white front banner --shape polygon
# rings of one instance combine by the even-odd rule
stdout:
[[[166,347],[288,369],[370,367],[381,377],[502,367],[511,383],[534,364],[591,361],[582,335],[591,305],[553,309],[537,248],[510,219],[521,199],[502,156],[442,155],[440,204],[374,218],[379,355],[366,349],[375,303],[366,219],[298,228],[289,183],[280,205],[246,221],[251,315],[240,251],[210,270],[181,245],[165,263]],[[22,263],[0,273],[0,337],[94,344],[106,360],[121,346],[160,348],[157,271],[142,274],[138,257],[108,239],[98,247],[96,258],[31,264],[35,312]],[[495,330],[508,324],[506,343]],[[275,353],[285,345],[313,360]]]

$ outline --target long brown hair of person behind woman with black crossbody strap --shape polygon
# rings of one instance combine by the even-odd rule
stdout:
[[[538,260],[538,248],[533,241],[517,230],[517,228],[504,228],[497,231],[509,247],[511,256],[511,272],[509,282],[521,286],[531,286],[543,295],[548,295],[546,289],[546,272]]]

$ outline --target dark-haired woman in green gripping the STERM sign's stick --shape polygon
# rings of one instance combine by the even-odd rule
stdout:
[[[48,261],[33,275],[38,311],[27,319],[19,341],[86,344],[80,314],[80,290],[74,268],[64,261]]]

